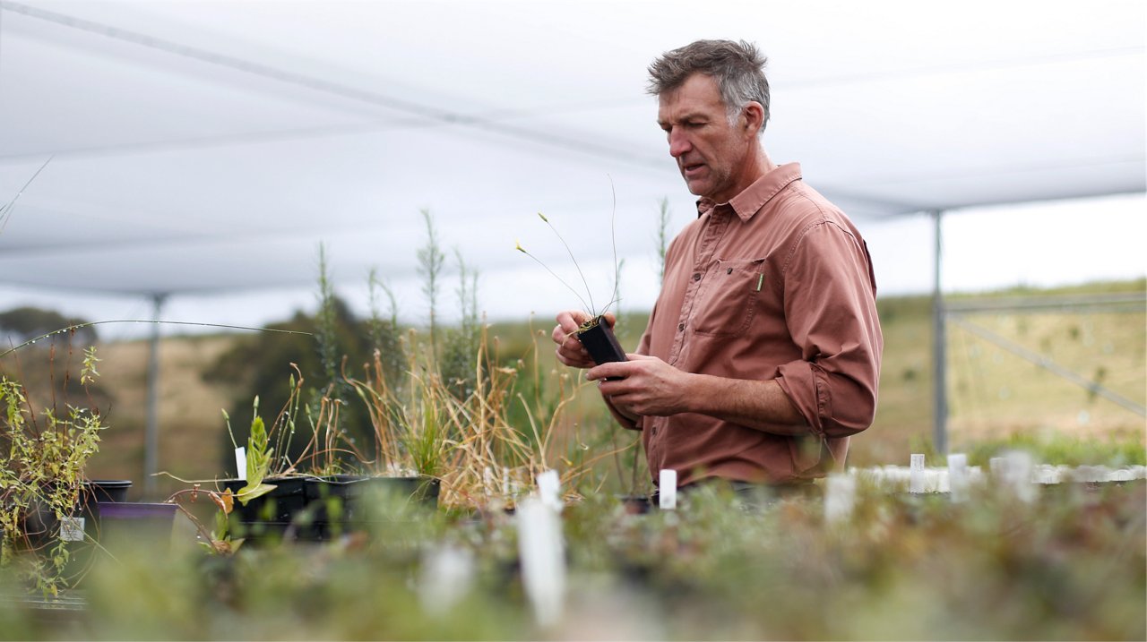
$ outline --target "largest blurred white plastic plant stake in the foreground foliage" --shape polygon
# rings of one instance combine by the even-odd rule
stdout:
[[[538,624],[552,625],[562,614],[565,595],[565,554],[560,517],[541,500],[526,498],[517,507],[517,529],[522,586]]]

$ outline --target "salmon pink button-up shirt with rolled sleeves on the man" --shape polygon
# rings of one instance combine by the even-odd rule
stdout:
[[[638,352],[689,373],[777,379],[806,425],[794,436],[689,413],[623,420],[642,431],[650,472],[674,469],[681,485],[788,483],[843,467],[849,436],[872,423],[883,350],[864,240],[796,163],[697,209],[669,246]]]

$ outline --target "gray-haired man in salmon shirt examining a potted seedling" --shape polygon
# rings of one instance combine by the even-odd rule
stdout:
[[[649,93],[699,217],[670,244],[662,291],[629,361],[594,366],[557,315],[567,366],[590,368],[649,470],[801,485],[841,468],[876,408],[883,337],[868,250],[852,222],[778,166],[765,58],[701,40],[649,66]]]

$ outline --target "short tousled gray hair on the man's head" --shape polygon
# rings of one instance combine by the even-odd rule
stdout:
[[[646,91],[655,96],[679,88],[694,73],[704,73],[717,80],[721,102],[729,123],[735,123],[750,101],[765,110],[760,132],[768,123],[768,80],[765,62],[756,45],[741,40],[697,40],[681,48],[666,52],[649,65],[649,85]],[[759,132],[758,132],[759,133]]]

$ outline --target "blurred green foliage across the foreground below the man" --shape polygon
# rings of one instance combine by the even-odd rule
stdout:
[[[592,494],[562,512],[567,590],[551,627],[532,617],[520,524],[499,511],[404,516],[228,557],[136,551],[93,571],[83,619],[53,628],[0,611],[0,625],[88,640],[1147,635],[1147,485],[1044,488],[1031,504],[982,491],[955,504],[861,484],[838,522],[817,499],[751,504],[717,487],[640,516]],[[443,593],[432,562],[446,548],[470,572],[446,576]]]

